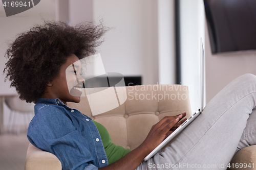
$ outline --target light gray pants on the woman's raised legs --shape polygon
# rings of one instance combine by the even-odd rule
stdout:
[[[226,169],[237,151],[256,144],[255,106],[256,76],[233,80],[170,146],[137,169]]]

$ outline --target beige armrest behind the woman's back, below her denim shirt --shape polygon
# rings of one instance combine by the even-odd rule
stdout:
[[[27,151],[25,170],[61,170],[59,159],[52,153],[42,151],[31,143]]]

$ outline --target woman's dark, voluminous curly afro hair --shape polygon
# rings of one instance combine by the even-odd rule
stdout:
[[[15,87],[19,98],[28,103],[44,94],[48,82],[58,75],[60,66],[71,54],[79,59],[96,52],[95,47],[108,31],[102,23],[81,23],[75,27],[64,22],[45,21],[17,35],[5,57],[9,58],[4,73]]]

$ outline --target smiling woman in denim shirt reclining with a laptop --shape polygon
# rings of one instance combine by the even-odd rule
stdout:
[[[226,169],[234,153],[256,144],[256,77],[250,74],[226,86],[172,145],[146,162],[144,157],[184,122],[185,113],[164,117],[133,151],[111,143],[102,125],[67,106],[80,102],[69,90],[84,82],[79,59],[95,53],[105,31],[102,25],[46,22],[20,34],[6,53],[6,78],[20,99],[36,103],[28,139],[55,154],[62,169]]]

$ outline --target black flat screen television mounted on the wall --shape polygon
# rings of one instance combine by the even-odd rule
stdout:
[[[256,0],[204,0],[211,53],[256,50]]]

